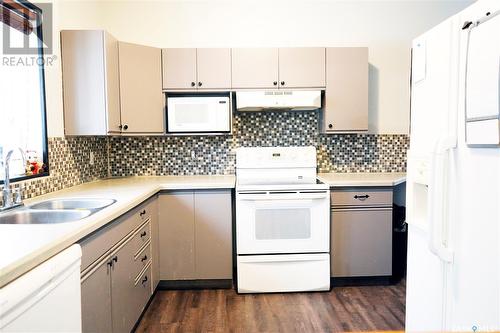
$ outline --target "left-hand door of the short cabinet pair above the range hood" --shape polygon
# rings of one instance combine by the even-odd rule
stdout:
[[[277,48],[232,49],[233,88],[277,88]]]

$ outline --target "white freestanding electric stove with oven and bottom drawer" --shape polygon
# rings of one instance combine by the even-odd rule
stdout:
[[[330,289],[330,190],[315,147],[239,148],[236,252],[240,293]]]

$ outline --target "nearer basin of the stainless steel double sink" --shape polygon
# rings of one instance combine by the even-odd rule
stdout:
[[[53,224],[78,221],[90,210],[31,210],[19,209],[0,214],[0,224]]]

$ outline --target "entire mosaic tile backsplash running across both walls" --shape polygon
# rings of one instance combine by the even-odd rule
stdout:
[[[313,145],[319,172],[406,171],[407,135],[320,134],[318,117],[317,111],[236,112],[232,135],[49,138],[50,176],[12,186],[32,198],[109,176],[234,174],[241,146]]]

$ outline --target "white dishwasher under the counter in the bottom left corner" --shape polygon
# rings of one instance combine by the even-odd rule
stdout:
[[[80,245],[0,289],[0,332],[81,332]]]

